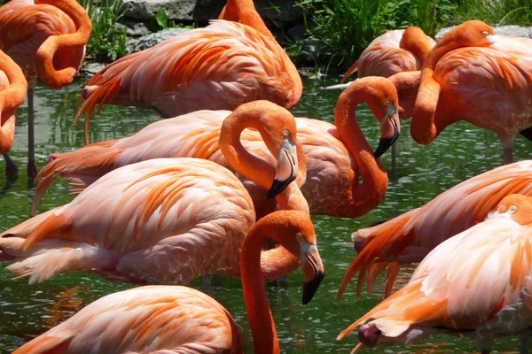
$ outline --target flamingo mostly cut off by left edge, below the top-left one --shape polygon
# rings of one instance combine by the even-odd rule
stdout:
[[[19,65],[0,50],[0,153],[5,159],[5,174],[13,175],[17,165],[7,154],[15,137],[15,112],[26,99],[27,82]]]

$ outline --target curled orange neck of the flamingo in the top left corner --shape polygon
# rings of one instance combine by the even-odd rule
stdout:
[[[52,88],[61,88],[72,82],[82,64],[92,23],[85,9],[75,0],[35,0],[35,4],[50,4],[57,7],[72,19],[76,27],[74,34],[51,35],[37,50],[39,77]],[[62,51],[57,60],[54,60],[58,50]],[[59,70],[54,66],[56,61],[61,62]]]

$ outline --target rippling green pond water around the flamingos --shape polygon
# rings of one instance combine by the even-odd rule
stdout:
[[[68,151],[83,145],[82,126],[73,127],[79,92],[84,83],[51,90],[39,86],[35,95],[35,150],[37,167],[45,165],[49,154]],[[333,107],[338,91],[323,91],[322,86],[338,79],[306,81],[301,103],[294,115],[333,120]],[[158,120],[156,113],[137,108],[109,106],[91,124],[91,141],[119,138],[136,133],[145,125]],[[379,129],[366,107],[359,107],[358,120],[372,146],[379,139]],[[502,164],[503,151],[497,136],[467,123],[454,125],[429,146],[419,146],[409,136],[409,122],[402,122],[403,135],[398,143],[398,168],[389,174],[390,183],[383,204],[359,219],[335,219],[314,216],[318,247],[325,262],[325,279],[317,295],[307,306],[301,305],[302,273],[291,274],[287,281],[267,287],[271,311],[276,320],[281,350],[286,353],[348,353],[356,344],[356,335],[336,341],[340,330],[378,304],[382,298],[382,281],[375,293],[357,298],[353,286],[336,301],[336,291],[349,263],[356,257],[350,235],[368,224],[395,217],[411,208],[425,204],[459,181]],[[27,187],[27,106],[19,111],[12,158],[20,166],[16,181],[5,181],[4,163],[0,162],[0,230],[19,224],[30,217],[29,206],[33,189]],[[532,144],[518,137],[515,158],[528,158]],[[382,158],[390,165],[389,154]],[[60,181],[49,189],[40,212],[66,204],[73,196],[66,193],[66,182]],[[400,274],[406,281],[413,268]],[[190,284],[200,289],[200,281]],[[28,286],[27,280],[12,281],[11,274],[0,266],[0,353],[11,352],[24,342],[42,334],[71,317],[83,306],[116,291],[129,289],[129,284],[107,281],[91,273],[60,275],[43,284]],[[252,352],[251,332],[239,280],[213,277],[211,296],[223,304],[239,325],[245,351]],[[496,342],[494,350],[515,352],[517,338]],[[366,349],[373,353],[404,352],[476,352],[475,343],[449,336],[436,336],[410,348]],[[497,352],[497,351],[495,351]]]

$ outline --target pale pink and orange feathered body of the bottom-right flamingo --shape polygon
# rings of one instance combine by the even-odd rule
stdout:
[[[529,292],[531,232],[504,213],[450,238],[426,256],[403,289],[340,337],[368,321],[394,342],[411,342],[430,334],[431,327],[467,332],[516,305],[527,317],[527,304],[520,300]]]

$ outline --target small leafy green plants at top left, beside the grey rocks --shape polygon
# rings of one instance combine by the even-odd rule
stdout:
[[[87,43],[87,57],[108,62],[126,55],[126,30],[118,31],[115,24],[121,18],[121,0],[78,0],[89,13],[92,33]]]

